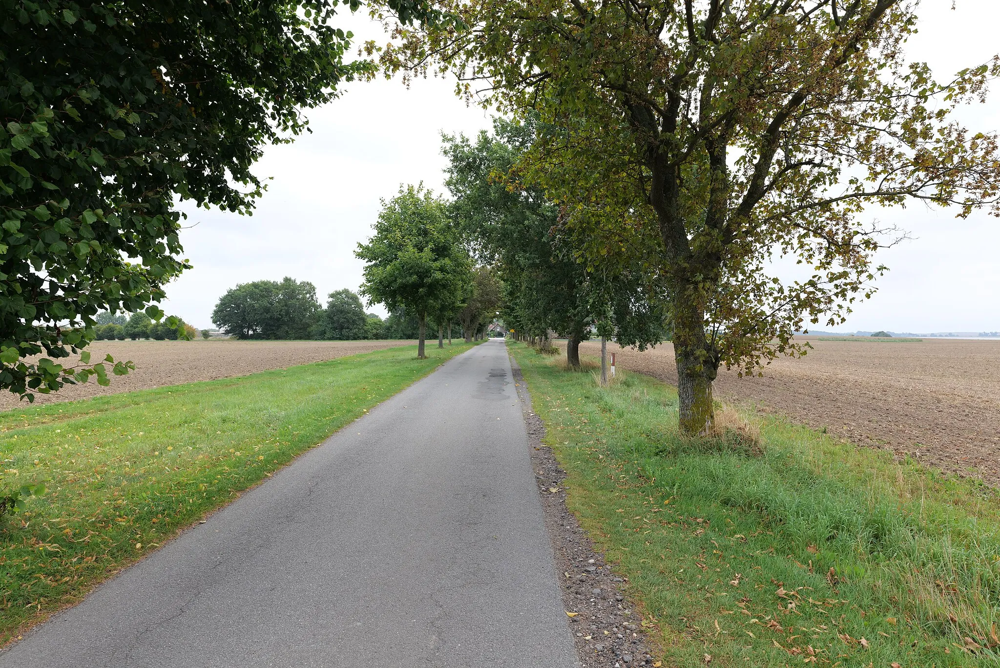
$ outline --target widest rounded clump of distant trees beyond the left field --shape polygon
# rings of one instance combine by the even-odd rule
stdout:
[[[212,321],[237,339],[312,339],[322,308],[316,287],[285,276],[241,283],[223,294]]]

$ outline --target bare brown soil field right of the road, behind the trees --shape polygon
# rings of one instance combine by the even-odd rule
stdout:
[[[776,360],[763,378],[720,371],[717,398],[1000,485],[1000,341],[806,339],[814,350]],[[677,383],[670,344],[611,348],[621,368]],[[600,344],[581,353],[600,356]]]

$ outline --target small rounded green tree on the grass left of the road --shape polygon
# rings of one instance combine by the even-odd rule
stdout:
[[[400,187],[395,197],[382,200],[374,236],[354,254],[366,261],[361,293],[390,311],[415,314],[423,355],[428,316],[455,307],[469,279],[469,256],[445,202],[423,185]]]

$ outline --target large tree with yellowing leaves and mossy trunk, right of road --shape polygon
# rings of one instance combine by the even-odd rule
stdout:
[[[903,45],[903,0],[453,0],[454,27],[402,30],[390,69],[456,72],[484,104],[543,124],[525,179],[562,207],[592,266],[669,296],[680,424],[713,420],[720,365],[754,373],[809,322],[869,296],[897,238],[871,206],[1000,213],[995,134],[953,115],[1000,60],[937,82]],[[770,270],[791,255],[801,280]]]

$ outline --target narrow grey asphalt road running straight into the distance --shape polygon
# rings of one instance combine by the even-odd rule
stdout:
[[[0,667],[578,666],[489,342],[0,653]]]

